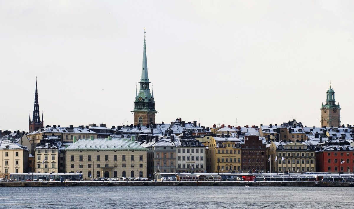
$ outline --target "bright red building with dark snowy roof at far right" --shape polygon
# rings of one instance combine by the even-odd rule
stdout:
[[[353,173],[354,147],[345,139],[330,139],[316,151],[316,171]]]

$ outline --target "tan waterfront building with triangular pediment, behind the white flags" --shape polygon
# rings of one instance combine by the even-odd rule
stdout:
[[[300,141],[272,142],[269,146],[269,154],[272,172],[316,172],[315,145]]]

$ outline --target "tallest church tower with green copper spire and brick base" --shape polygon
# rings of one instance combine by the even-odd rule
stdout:
[[[136,90],[134,110],[134,125],[152,125],[155,123],[155,101],[154,90],[152,94],[149,88],[148,64],[146,60],[146,44],[145,44],[145,29],[144,29],[144,50],[143,50],[143,66],[141,70],[139,92]]]

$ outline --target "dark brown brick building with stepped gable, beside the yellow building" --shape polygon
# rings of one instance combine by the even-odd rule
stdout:
[[[245,136],[241,143],[241,172],[267,172],[267,141],[264,137]]]

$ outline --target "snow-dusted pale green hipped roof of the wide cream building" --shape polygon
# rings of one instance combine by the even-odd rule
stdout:
[[[130,139],[79,139],[65,150],[146,150]]]

